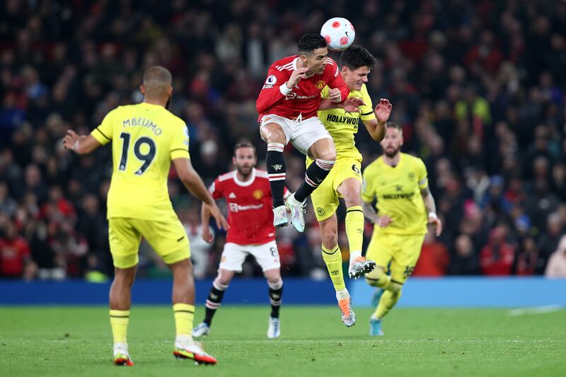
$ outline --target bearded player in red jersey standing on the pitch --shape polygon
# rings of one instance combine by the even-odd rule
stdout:
[[[232,158],[236,170],[220,175],[209,188],[214,199],[226,199],[229,230],[218,275],[207,298],[204,321],[192,330],[193,337],[202,337],[210,332],[212,318],[220,306],[224,291],[234,274],[242,271],[242,263],[248,254],[258,261],[270,287],[271,316],[267,337],[277,338],[281,332],[279,306],[283,280],[275,243],[271,188],[267,172],[255,169],[257,161],[253,144],[248,141],[236,144]],[[209,219],[209,209],[202,206],[202,238],[212,243]]]

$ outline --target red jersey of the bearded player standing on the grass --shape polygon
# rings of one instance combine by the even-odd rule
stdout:
[[[270,180],[264,170],[252,170],[250,180],[238,180],[237,170],[219,175],[210,185],[214,199],[226,198],[228,236],[226,242],[260,245],[275,240]],[[286,189],[287,190],[287,189]]]

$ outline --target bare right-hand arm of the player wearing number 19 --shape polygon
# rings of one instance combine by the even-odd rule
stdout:
[[[175,164],[175,170],[177,170],[177,174],[181,182],[183,182],[183,185],[187,187],[187,190],[189,190],[192,195],[195,195],[195,197],[199,198],[204,205],[207,206],[210,214],[212,214],[212,217],[216,220],[216,226],[228,230],[226,219],[221,214],[220,209],[216,205],[214,198],[208,192],[207,187],[204,186],[200,175],[192,168],[190,159],[175,158],[173,163]]]

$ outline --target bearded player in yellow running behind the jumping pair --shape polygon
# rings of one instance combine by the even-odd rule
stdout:
[[[377,308],[369,320],[369,335],[383,335],[381,318],[395,306],[403,283],[417,264],[427,224],[436,226],[437,237],[442,231],[427,168],[420,158],[401,153],[402,145],[401,127],[390,122],[381,141],[383,155],[364,169],[364,214],[375,224],[366,257],[376,261],[376,269],[366,274],[366,282],[377,288],[372,300]],[[377,212],[371,207],[374,199]]]

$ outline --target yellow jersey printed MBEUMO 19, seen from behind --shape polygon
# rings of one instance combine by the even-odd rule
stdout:
[[[110,111],[91,135],[103,145],[112,141],[108,218],[171,216],[167,190],[171,160],[190,158],[185,122],[163,106],[139,103]]]

